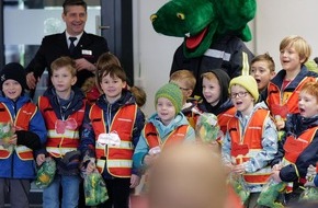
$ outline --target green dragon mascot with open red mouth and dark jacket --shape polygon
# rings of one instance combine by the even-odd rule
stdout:
[[[251,39],[248,22],[254,18],[255,0],[171,0],[150,16],[156,32],[184,37],[175,50],[170,74],[193,71],[201,94],[201,74],[224,69],[230,78],[248,74],[253,57],[243,42]]]

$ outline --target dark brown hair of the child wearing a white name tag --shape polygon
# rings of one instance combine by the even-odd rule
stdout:
[[[104,77],[110,74],[111,78],[120,78],[123,82],[127,81],[127,76],[124,69],[117,65],[110,65],[96,71],[98,83],[100,84]]]

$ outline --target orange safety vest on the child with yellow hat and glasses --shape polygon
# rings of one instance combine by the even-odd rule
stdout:
[[[236,158],[237,164],[249,161],[251,157],[261,151],[264,122],[270,116],[266,109],[258,109],[252,115],[247,129],[242,135],[239,120],[232,118],[228,122],[228,132],[231,138],[231,157]],[[247,184],[265,184],[271,175],[271,167],[266,166],[254,173],[243,174]]]

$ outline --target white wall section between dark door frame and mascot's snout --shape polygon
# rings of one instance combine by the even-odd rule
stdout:
[[[134,23],[138,24],[136,25],[138,31],[135,30],[134,34],[139,42],[137,46],[135,45],[139,49],[138,57],[135,58],[135,61],[138,61],[138,63],[135,62],[135,79],[136,85],[140,84],[146,90],[147,104],[144,112],[150,115],[155,112],[155,93],[169,81],[173,53],[182,43],[182,38],[160,35],[152,28],[150,15],[168,0],[137,0],[134,2],[137,3],[137,10],[134,10],[137,21]]]

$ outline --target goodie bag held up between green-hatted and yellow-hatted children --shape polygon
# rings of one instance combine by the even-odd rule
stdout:
[[[217,117],[211,113],[198,113],[197,109],[193,108],[196,114],[200,114],[196,126],[195,135],[201,138],[203,142],[214,142],[220,139],[220,130],[217,125]]]

